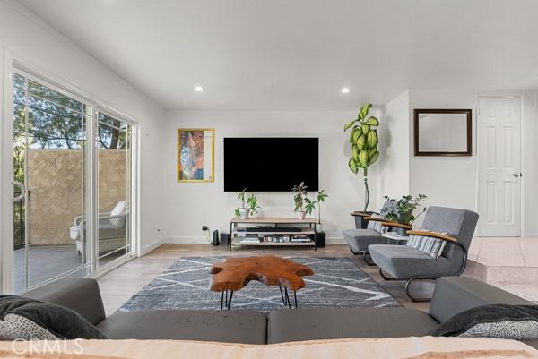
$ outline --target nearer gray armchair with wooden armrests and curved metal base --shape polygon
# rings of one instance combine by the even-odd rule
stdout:
[[[372,261],[379,266],[383,278],[406,280],[405,293],[413,302],[429,301],[429,298],[412,296],[411,283],[415,280],[433,280],[462,274],[477,222],[478,213],[471,210],[431,206],[421,227],[435,233],[420,231],[408,233],[435,237],[447,242],[438,258],[433,258],[408,245],[373,244],[369,245],[369,253]],[[445,233],[448,235],[443,235]]]

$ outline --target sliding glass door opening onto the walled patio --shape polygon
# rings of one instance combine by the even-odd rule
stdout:
[[[132,124],[14,74],[14,293],[133,252],[132,136]]]

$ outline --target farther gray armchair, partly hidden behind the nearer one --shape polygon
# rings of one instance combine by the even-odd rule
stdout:
[[[365,223],[365,228],[344,229],[342,231],[343,240],[350,244],[350,250],[353,254],[362,253],[367,262],[368,246],[370,244],[387,244],[387,239],[383,237],[383,233],[378,230],[379,226],[375,226],[372,222],[386,222],[386,219],[372,218],[373,214],[384,216],[390,209],[392,204],[386,201],[379,212],[353,212],[351,215],[360,217],[360,223]],[[377,227],[377,228],[376,228]]]

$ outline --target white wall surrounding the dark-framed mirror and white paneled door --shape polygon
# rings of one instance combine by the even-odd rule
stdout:
[[[409,121],[412,131],[414,108],[472,108],[472,157],[415,157],[410,132],[410,192],[429,196],[427,205],[477,209],[477,152],[476,100],[477,95],[520,96],[522,98],[522,172],[524,172],[523,199],[525,203],[524,234],[538,234],[538,109],[534,91],[478,91],[478,90],[410,90]]]

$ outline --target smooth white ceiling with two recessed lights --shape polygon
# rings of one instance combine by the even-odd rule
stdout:
[[[351,109],[414,88],[538,88],[536,0],[21,3],[168,109]]]

